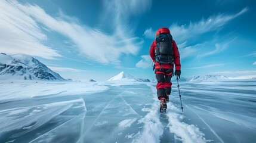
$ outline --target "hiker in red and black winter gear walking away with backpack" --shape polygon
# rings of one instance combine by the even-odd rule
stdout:
[[[162,51],[166,50],[168,53],[171,53],[169,56],[168,54],[161,54]],[[160,111],[165,112],[167,108],[166,100],[169,101],[169,95],[171,94],[171,77],[173,75],[174,64],[175,76],[180,78],[181,74],[180,53],[168,28],[161,27],[158,29],[156,39],[150,46],[149,55],[155,63],[153,70],[155,70],[156,79],[158,80],[156,89],[158,100],[161,101]]]

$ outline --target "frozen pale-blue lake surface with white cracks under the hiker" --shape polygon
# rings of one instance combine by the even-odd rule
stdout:
[[[0,82],[0,142],[255,142],[256,82]]]

